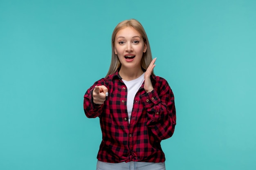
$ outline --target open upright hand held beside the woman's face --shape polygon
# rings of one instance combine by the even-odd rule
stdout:
[[[147,93],[153,91],[153,89],[154,89],[152,86],[152,83],[151,83],[150,75],[153,71],[153,68],[155,67],[155,60],[157,60],[157,58],[154,58],[152,60],[152,62],[149,64],[149,66],[144,74],[144,79],[145,79],[144,89]]]

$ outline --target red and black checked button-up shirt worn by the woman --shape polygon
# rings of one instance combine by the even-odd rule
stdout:
[[[154,90],[146,93],[144,83],[135,95],[130,124],[126,109],[127,88],[118,71],[95,82],[84,95],[84,111],[99,117],[102,141],[97,159],[119,163],[129,161],[164,162],[160,142],[173,135],[176,112],[173,92],[162,77],[151,75]],[[102,105],[94,104],[94,86],[108,88]]]

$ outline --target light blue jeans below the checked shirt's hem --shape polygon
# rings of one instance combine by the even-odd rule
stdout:
[[[165,163],[152,162],[121,162],[107,163],[98,161],[96,170],[165,170]]]

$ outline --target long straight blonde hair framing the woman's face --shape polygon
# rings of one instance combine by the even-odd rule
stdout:
[[[137,21],[135,19],[124,20],[124,21],[120,22],[119,24],[117,24],[117,26],[115,27],[115,29],[112,33],[112,42],[111,42],[111,44],[112,44],[112,57],[111,57],[110,67],[109,67],[109,70],[108,70],[108,73],[107,73],[106,77],[108,75],[111,75],[111,74],[115,73],[121,67],[121,63],[120,63],[117,55],[115,54],[115,38],[116,38],[117,32],[119,30],[124,29],[128,26],[131,26],[136,31],[138,31],[141,34],[144,43],[147,45],[147,50],[146,50],[145,53],[143,53],[142,58],[141,58],[141,68],[142,68],[142,70],[146,71],[150,62],[152,61],[152,54],[151,54],[150,45],[149,45],[149,42],[148,42],[148,37],[147,37],[146,32],[145,32],[143,26],[141,25],[141,23],[139,23],[139,21]],[[152,74],[154,75],[153,71],[152,71]]]

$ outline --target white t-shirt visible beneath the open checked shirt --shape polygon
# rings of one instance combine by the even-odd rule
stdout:
[[[137,91],[139,90],[140,86],[144,82],[144,73],[141,76],[139,76],[137,79],[133,79],[133,80],[130,80],[130,81],[126,81],[126,80],[123,79],[123,82],[127,87],[126,107],[127,107],[127,113],[128,113],[128,120],[129,120],[129,123],[130,123],[134,97],[135,97]]]

